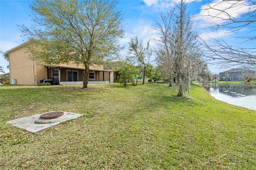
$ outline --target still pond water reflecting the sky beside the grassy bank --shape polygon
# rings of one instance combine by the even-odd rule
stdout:
[[[256,111],[256,85],[203,83],[203,87],[217,100]]]

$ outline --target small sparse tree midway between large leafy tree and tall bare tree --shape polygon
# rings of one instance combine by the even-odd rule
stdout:
[[[142,84],[145,83],[146,77],[146,69],[150,63],[150,58],[152,55],[152,50],[149,47],[149,41],[147,42],[147,46],[143,47],[143,41],[138,40],[138,37],[131,38],[129,43],[129,53],[135,60],[142,66],[143,78]]]

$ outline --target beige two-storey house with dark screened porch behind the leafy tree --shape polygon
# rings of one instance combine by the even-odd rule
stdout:
[[[44,65],[29,58],[27,43],[16,46],[9,53],[11,84],[37,85],[41,79],[53,80],[54,84],[83,84],[84,67],[76,64]],[[114,82],[113,70],[104,70],[103,65],[91,65],[90,83]]]

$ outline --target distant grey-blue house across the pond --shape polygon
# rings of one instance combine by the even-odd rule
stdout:
[[[245,77],[251,77],[256,74],[256,70],[247,69],[231,69],[219,73],[221,81],[239,81],[244,80]]]

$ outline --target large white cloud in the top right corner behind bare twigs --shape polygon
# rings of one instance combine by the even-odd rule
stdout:
[[[236,19],[241,14],[255,10],[256,5],[249,5],[245,0],[242,1],[222,1],[215,0],[210,4],[201,7],[201,12],[196,17],[201,22],[201,26],[217,25],[232,18]]]

